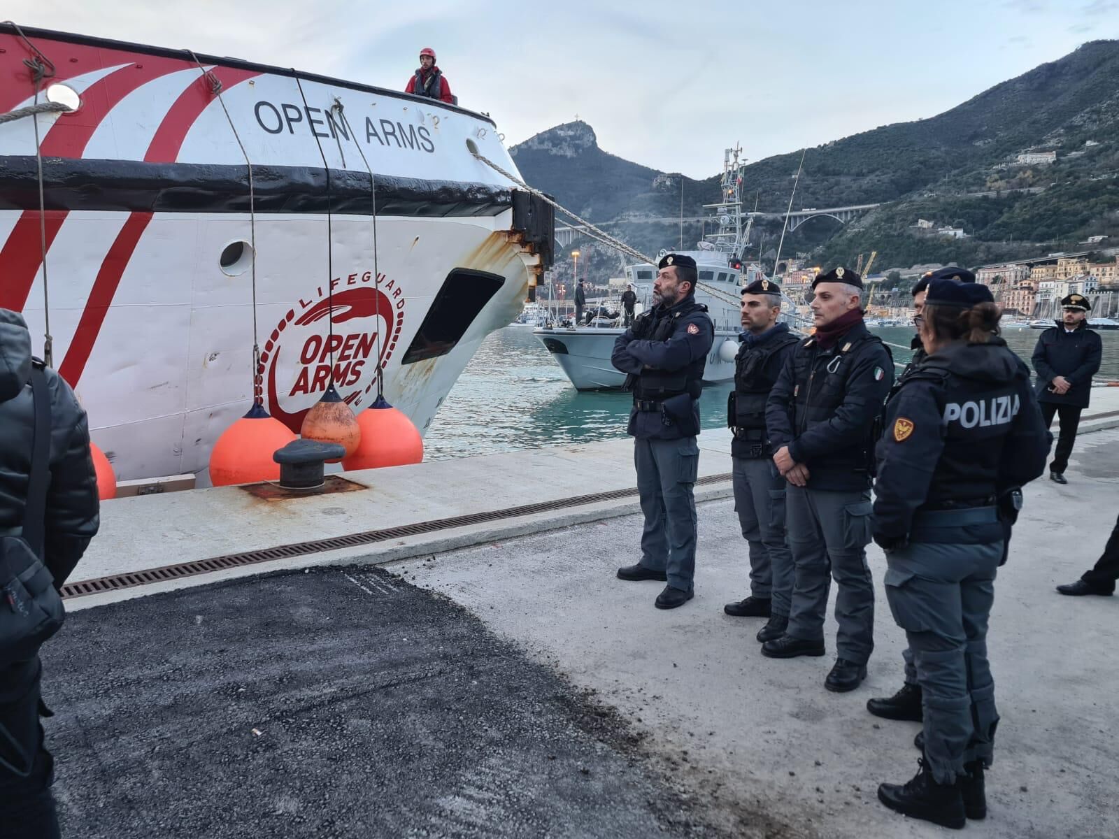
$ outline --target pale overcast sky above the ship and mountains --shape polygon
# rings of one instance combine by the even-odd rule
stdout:
[[[932,116],[1119,37],[1119,0],[7,0],[17,23],[403,88],[421,47],[509,144],[577,114],[606,151],[703,178]]]

